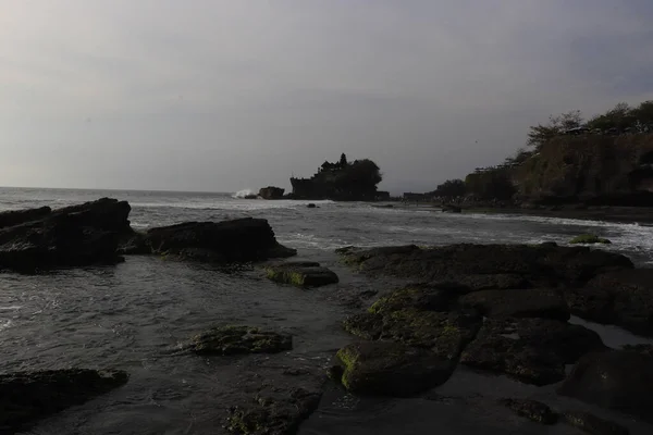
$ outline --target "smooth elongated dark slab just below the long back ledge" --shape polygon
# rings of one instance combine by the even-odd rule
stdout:
[[[459,302],[489,318],[569,319],[567,302],[556,289],[473,291],[461,297]]]

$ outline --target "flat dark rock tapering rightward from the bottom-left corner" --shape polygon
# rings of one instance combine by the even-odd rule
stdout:
[[[121,371],[53,370],[0,375],[0,432],[27,430],[37,420],[125,384]]]

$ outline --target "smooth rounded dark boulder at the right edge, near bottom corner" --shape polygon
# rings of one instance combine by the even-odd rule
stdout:
[[[584,356],[558,394],[653,421],[653,357],[633,351]]]

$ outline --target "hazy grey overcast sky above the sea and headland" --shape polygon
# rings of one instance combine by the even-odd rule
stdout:
[[[381,188],[653,99],[650,0],[0,0],[0,186],[237,191],[341,152]]]

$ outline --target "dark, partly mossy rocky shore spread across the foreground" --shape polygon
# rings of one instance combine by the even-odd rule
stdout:
[[[343,319],[352,339],[333,352],[329,369],[307,377],[301,376],[308,372],[288,370],[284,374],[297,381],[283,385],[260,378],[260,385],[247,387],[254,391],[250,400],[215,411],[231,433],[294,434],[319,409],[322,395],[338,388],[361,398],[432,400],[463,371],[510,380],[531,391],[552,388],[555,397],[623,415],[632,427],[653,424],[653,347],[609,348],[596,332],[570,322],[578,316],[653,337],[653,270],[636,268],[625,256],[553,243],[348,247],[337,250],[343,269],[332,271],[312,261],[279,260],[296,251],[280,245],[262,219],[135,232],[130,211],[127,202],[103,198],[60,210],[0,213],[0,266],[4,272],[46,273],[111,266],[128,256],[258,262],[261,278],[278,283],[279,291],[304,294],[320,287],[343,300],[358,294],[340,293],[342,270],[371,283],[385,277],[383,287],[360,293],[358,302],[365,309]],[[215,324],[188,336],[168,357],[292,357],[293,338],[287,332],[247,324]],[[0,374],[5,411],[1,431],[23,431],[119,388],[128,376],[111,368]],[[542,425],[629,433],[621,419],[615,422],[529,396],[504,397],[492,407]],[[560,431],[555,433],[566,433]]]

